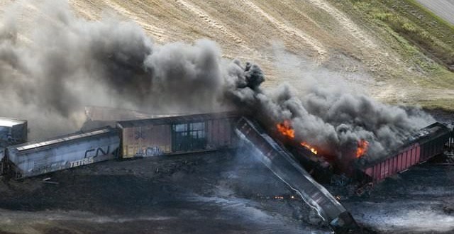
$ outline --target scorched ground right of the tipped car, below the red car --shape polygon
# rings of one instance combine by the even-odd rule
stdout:
[[[328,186],[363,227],[377,233],[453,233],[454,166],[426,162],[362,196]]]

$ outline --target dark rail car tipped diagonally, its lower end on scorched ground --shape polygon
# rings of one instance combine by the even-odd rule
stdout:
[[[362,233],[353,216],[321,184],[301,167],[294,157],[273,140],[258,123],[240,118],[236,133],[262,163],[296,191],[326,221],[335,233]]]

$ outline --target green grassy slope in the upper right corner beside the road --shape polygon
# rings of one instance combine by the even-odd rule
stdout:
[[[349,0],[331,1],[348,13],[356,23],[375,30],[375,35],[399,53],[406,65],[421,73],[414,77],[395,72],[396,79],[413,82],[421,87],[406,104],[425,108],[454,109],[454,26],[436,16],[414,0]],[[408,87],[411,90],[411,87]],[[441,95],[424,95],[429,89]],[[416,91],[416,90],[415,90]],[[399,103],[400,100],[390,102]]]

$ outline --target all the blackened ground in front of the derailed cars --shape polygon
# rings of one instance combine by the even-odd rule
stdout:
[[[245,150],[101,162],[0,184],[0,233],[330,233]],[[43,182],[43,179],[47,179]],[[362,196],[324,184],[367,233],[452,233],[454,167],[425,163]]]

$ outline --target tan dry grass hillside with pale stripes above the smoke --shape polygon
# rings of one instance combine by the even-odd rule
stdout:
[[[9,2],[0,0],[0,12]],[[303,85],[280,73],[282,61],[273,45],[282,43],[297,57],[340,73],[370,77],[353,82],[382,101],[424,104],[440,99],[446,106],[443,100],[454,99],[450,96],[454,75],[445,69],[453,57],[454,40],[445,40],[452,28],[438,23],[431,28],[434,17],[410,1],[70,0],[70,4],[90,20],[104,12],[131,19],[157,44],[215,40],[224,57],[260,64],[267,74],[265,87],[282,82],[296,89]],[[417,21],[411,14],[414,9],[429,23]]]

